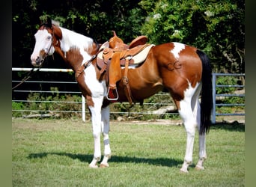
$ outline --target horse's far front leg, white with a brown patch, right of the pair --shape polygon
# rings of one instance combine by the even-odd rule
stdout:
[[[102,108],[101,120],[104,143],[104,158],[103,161],[100,163],[100,168],[106,168],[109,167],[108,161],[111,157],[111,149],[109,144],[109,106],[107,106],[106,108]]]

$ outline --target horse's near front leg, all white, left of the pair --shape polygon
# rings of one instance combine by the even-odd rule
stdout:
[[[101,106],[103,104],[103,96],[93,97],[93,105],[88,105],[91,111],[91,123],[94,135],[94,159],[91,161],[90,168],[98,168],[97,162],[101,159],[100,151],[100,133],[101,133]]]

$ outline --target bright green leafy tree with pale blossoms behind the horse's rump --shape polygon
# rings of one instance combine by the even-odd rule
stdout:
[[[139,4],[148,13],[141,33],[151,43],[187,43],[210,56],[215,72],[245,72],[243,0],[150,2],[142,0]]]

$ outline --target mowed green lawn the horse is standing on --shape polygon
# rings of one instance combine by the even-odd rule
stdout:
[[[26,120],[12,123],[13,186],[245,186],[245,126],[213,126],[208,158],[196,171],[198,135],[189,174],[180,173],[186,147],[183,126],[112,123],[109,168],[88,168],[91,123]]]

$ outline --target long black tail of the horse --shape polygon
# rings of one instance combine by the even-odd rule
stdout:
[[[212,85],[212,68],[210,59],[204,52],[197,50],[199,58],[202,61],[202,90],[201,90],[201,124],[200,135],[210,130],[210,116],[213,109],[213,85]]]

